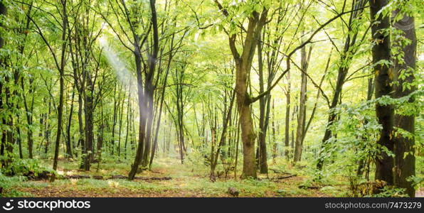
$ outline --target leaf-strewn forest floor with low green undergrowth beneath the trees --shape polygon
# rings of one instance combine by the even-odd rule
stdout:
[[[98,169],[97,164],[93,164],[90,172],[79,170],[77,167],[77,162],[61,159],[58,173],[63,176],[102,175],[104,178],[109,178],[112,175],[126,176],[129,170],[128,162],[105,163]],[[231,177],[211,181],[206,170],[196,170],[193,165],[181,165],[175,158],[159,158],[155,160],[151,171],[144,170],[136,176],[145,179],[152,177],[171,179],[129,181],[70,178],[58,179],[55,182],[31,180],[21,182],[13,189],[18,192],[19,197],[232,197],[228,194],[229,187],[238,190],[240,197],[339,197],[344,196],[343,193],[348,190],[347,182],[304,188],[302,185],[305,185],[307,178],[297,174],[280,180],[275,179],[277,175],[274,173],[268,176],[260,175],[259,180],[240,180],[235,179],[232,173]],[[287,176],[290,175],[278,177]]]

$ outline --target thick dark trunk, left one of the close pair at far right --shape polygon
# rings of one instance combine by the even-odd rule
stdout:
[[[374,63],[374,75],[376,84],[376,99],[383,96],[391,96],[393,88],[391,83],[393,82],[393,69],[382,61],[391,60],[391,48],[389,35],[382,31],[390,28],[390,21],[388,16],[383,16],[378,13],[384,6],[387,5],[386,0],[374,1],[370,0],[370,12],[371,21],[371,33],[373,42],[372,55]],[[379,64],[377,64],[379,63]],[[376,158],[376,180],[385,181],[388,185],[393,185],[393,157],[383,151],[383,148],[387,151],[393,152],[394,137],[393,137],[393,106],[390,104],[376,103],[376,116],[378,124],[381,124],[381,134],[377,141],[380,152]]]

